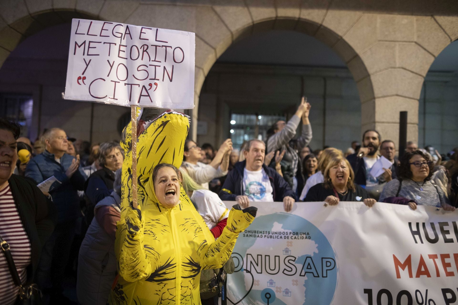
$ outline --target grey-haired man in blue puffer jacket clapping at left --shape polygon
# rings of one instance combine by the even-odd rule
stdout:
[[[42,142],[45,150],[30,159],[25,176],[32,178],[37,184],[53,176],[58,180],[49,190],[58,217],[54,232],[44,245],[38,264],[37,284],[42,289],[49,289],[52,285],[50,304],[69,304],[62,294],[62,282],[77,219],[81,216],[77,191],[83,189],[87,177],[79,166],[79,159],[66,153],[68,140],[64,130],[48,129],[43,134]]]

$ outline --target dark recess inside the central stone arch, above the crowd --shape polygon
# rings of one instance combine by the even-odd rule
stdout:
[[[341,39],[327,28],[322,29],[326,31],[326,39],[320,37],[321,42],[313,39],[318,29],[319,26],[310,21],[291,18],[261,21],[245,28],[234,44],[212,66],[202,91],[199,92],[197,119],[199,128],[204,126],[201,130],[205,131],[196,137],[198,143],[221,143],[229,135],[235,137],[235,134],[229,134],[229,130],[234,127],[235,133],[240,133],[240,126],[229,124],[232,119],[239,122],[237,118],[229,118],[231,113],[262,114],[263,124],[268,124],[265,123],[265,115],[285,114],[289,118],[289,115],[294,114],[297,107],[294,105],[301,95],[307,96],[313,105],[312,147],[332,145],[346,149],[346,145],[352,140],[359,139],[360,94],[354,77],[348,70],[348,62],[357,54],[351,48],[346,54],[337,54],[336,49],[338,52],[341,49],[326,47],[325,45],[333,46]],[[322,52],[311,51],[316,47]],[[256,53],[260,57],[253,55]],[[228,54],[232,55],[228,57]],[[266,54],[275,55],[266,58]],[[331,64],[323,56],[334,61]],[[298,59],[300,57],[304,59]],[[344,60],[339,60],[338,57]],[[236,64],[237,62],[242,64]],[[281,66],[282,63],[286,65]],[[310,67],[320,64],[329,67]],[[360,70],[365,70],[364,65]],[[350,122],[345,122],[344,118]],[[205,126],[208,126],[208,130]],[[264,125],[261,128],[262,137],[265,139],[267,127]],[[249,126],[248,130],[251,134],[247,133],[244,137],[252,137],[253,131],[258,128]],[[230,133],[234,133],[234,130]],[[257,131],[254,136],[257,136]],[[240,141],[240,135],[233,140]]]

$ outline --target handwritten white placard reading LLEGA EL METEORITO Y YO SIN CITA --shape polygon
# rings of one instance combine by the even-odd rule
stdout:
[[[65,99],[192,109],[192,32],[73,19]]]

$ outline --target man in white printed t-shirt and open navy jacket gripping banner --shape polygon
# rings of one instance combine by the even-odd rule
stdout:
[[[252,201],[283,201],[284,210],[291,211],[296,195],[283,177],[264,165],[264,142],[257,139],[248,141],[243,153],[245,161],[237,162],[229,172],[219,197],[237,201],[243,209]]]

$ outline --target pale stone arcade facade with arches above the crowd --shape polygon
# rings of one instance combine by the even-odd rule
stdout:
[[[410,3],[410,2],[409,2]],[[418,98],[437,54],[458,38],[454,0],[23,0],[0,3],[0,64],[23,37],[73,17],[196,33],[195,103],[216,59],[238,38],[269,28],[308,33],[347,63],[360,92],[362,129],[398,139],[398,112],[418,137]],[[192,113],[194,122],[197,109]],[[194,134],[196,124],[193,124]]]

